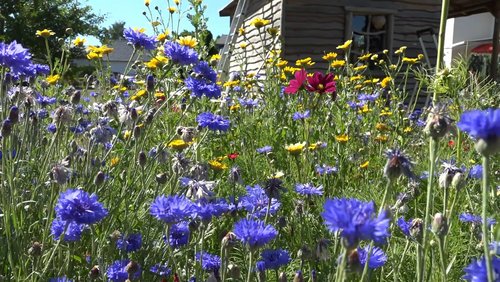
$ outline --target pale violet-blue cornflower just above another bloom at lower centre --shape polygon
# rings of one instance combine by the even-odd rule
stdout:
[[[247,186],[247,194],[240,197],[238,206],[244,208],[251,215],[262,218],[267,214],[267,207],[269,204],[269,197],[266,195],[264,189],[259,185]],[[275,214],[278,212],[280,203],[276,199],[271,199],[271,209],[269,214]]]

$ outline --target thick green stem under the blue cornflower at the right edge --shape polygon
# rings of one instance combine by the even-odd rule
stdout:
[[[490,159],[488,156],[483,156],[483,248],[484,248],[484,258],[486,261],[486,271],[488,273],[488,281],[493,282],[493,269],[491,267],[491,255],[490,255],[490,245],[488,243],[488,220],[487,220],[487,210],[488,210],[488,197],[489,197],[489,168],[490,168]]]

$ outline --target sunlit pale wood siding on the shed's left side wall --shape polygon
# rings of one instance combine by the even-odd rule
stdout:
[[[250,1],[245,13],[245,21],[242,24],[242,27],[245,29],[245,34],[238,35],[236,43],[233,46],[234,49],[232,50],[229,65],[230,73],[240,71],[256,72],[262,67],[262,63],[264,62],[263,57],[265,57],[263,53],[263,44],[270,45],[274,41],[271,36],[267,34],[266,29],[268,27],[281,27],[282,1],[283,0]],[[258,30],[250,26],[250,22],[255,17],[270,20],[271,24]],[[247,43],[248,47],[242,49],[240,47],[241,43]]]

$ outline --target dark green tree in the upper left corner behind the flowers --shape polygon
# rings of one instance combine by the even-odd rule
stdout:
[[[36,37],[37,30],[50,29],[56,33],[50,38],[50,48],[60,51],[57,38],[72,34],[99,35],[103,16],[96,15],[92,7],[81,5],[78,0],[2,0],[0,1],[0,41],[17,40],[29,48],[37,59],[45,57],[43,39]]]

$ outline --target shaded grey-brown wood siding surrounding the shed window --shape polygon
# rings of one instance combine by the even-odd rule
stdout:
[[[346,39],[346,14],[350,8],[374,11],[391,10],[394,20],[392,51],[407,46],[407,56],[422,53],[416,32],[439,27],[439,0],[284,0],[283,55],[286,60],[312,57],[317,69],[325,69],[323,54],[336,51]],[[436,58],[436,47],[430,36],[424,37],[431,61]]]

